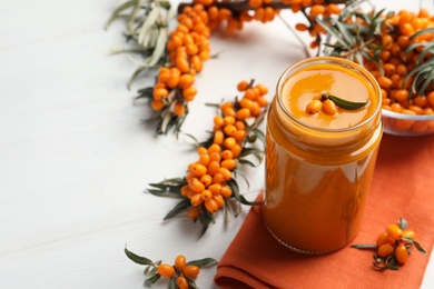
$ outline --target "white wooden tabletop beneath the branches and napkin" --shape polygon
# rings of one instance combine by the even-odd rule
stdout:
[[[220,259],[248,211],[227,225],[220,213],[198,239],[199,225],[183,215],[162,222],[176,200],[144,192],[150,182],[184,176],[196,153],[183,139],[155,138],[140,122],[149,109],[132,99],[145,83],[128,91],[135,64],[108,56],[124,44],[120,23],[103,30],[118,4],[0,2],[0,288],[142,288],[142,268],[126,258],[126,245],[166,262],[179,253]],[[211,49],[221,53],[197,77],[199,94],[184,127],[199,140],[215,112],[205,102],[231,100],[243,79],[273,91],[283,70],[304,58],[279,20],[214,34]],[[246,196],[254,198],[263,168],[246,176]],[[198,286],[213,288],[215,272],[203,270]],[[434,288],[433,261],[423,288]]]

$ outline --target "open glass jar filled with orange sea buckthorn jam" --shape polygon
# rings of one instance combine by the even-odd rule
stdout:
[[[309,113],[322,93],[367,104]],[[345,247],[358,232],[383,133],[381,92],[362,67],[312,58],[280,77],[266,131],[263,213],[273,236],[304,253]]]

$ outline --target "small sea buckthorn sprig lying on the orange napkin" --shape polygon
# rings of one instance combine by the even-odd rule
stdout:
[[[413,246],[426,256],[426,251],[415,238],[416,233],[407,229],[407,221],[400,218],[397,223],[391,223],[385,231],[379,233],[376,243],[352,245],[351,247],[375,250],[373,265],[377,270],[398,270],[400,266],[407,262]]]

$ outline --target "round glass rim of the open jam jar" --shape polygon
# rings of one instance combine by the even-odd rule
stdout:
[[[313,58],[305,59],[300,62],[297,62],[297,63],[288,67],[282,73],[280,78],[277,81],[277,86],[276,86],[276,97],[277,97],[277,102],[278,102],[279,107],[283,109],[285,114],[288,116],[298,126],[302,126],[302,127],[309,129],[309,130],[316,130],[316,131],[322,131],[322,132],[349,132],[349,131],[354,131],[354,130],[357,130],[357,129],[366,126],[367,123],[373,121],[375,118],[381,116],[382,106],[381,106],[381,101],[378,99],[377,107],[375,108],[374,112],[368,118],[366,118],[365,120],[361,121],[359,123],[357,123],[355,126],[347,127],[347,128],[338,128],[338,129],[318,128],[315,126],[307,124],[307,123],[298,120],[297,118],[295,118],[293,116],[293,113],[290,113],[289,110],[286,108],[286,106],[280,97],[280,91],[282,91],[282,88],[285,83],[285,80],[288,79],[289,76],[292,76],[294,72],[302,70],[303,68],[308,67],[312,63],[334,63],[334,64],[338,64],[338,66],[346,68],[346,69],[352,69],[353,71],[356,71],[356,72],[363,74],[363,77],[367,80],[367,82],[373,86],[373,89],[376,92],[376,94],[379,96],[379,93],[381,93],[379,84],[376,81],[376,79],[374,78],[374,76],[366,68],[364,68],[364,67],[362,67],[353,61],[349,61],[349,60],[343,59],[343,58],[338,58],[338,57],[313,57]],[[378,118],[378,120],[379,119],[381,118]]]

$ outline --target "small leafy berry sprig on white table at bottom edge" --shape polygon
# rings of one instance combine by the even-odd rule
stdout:
[[[161,260],[152,261],[146,257],[138,256],[128,250],[127,247],[125,248],[125,253],[131,261],[146,266],[146,285],[152,285],[164,277],[169,279],[169,289],[198,288],[195,280],[198,277],[200,269],[217,265],[217,260],[213,258],[204,258],[187,262],[186,257],[183,255],[176,257],[174,265],[162,263]]]

